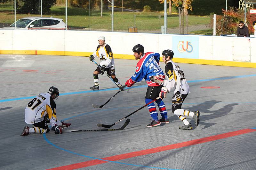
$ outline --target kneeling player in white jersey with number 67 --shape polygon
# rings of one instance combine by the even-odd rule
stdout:
[[[28,103],[25,109],[25,122],[33,124],[35,127],[25,126],[20,136],[28,135],[31,132],[47,133],[50,131],[47,123],[51,123],[52,131],[55,131],[55,134],[61,134],[61,129],[71,126],[71,124],[60,122],[57,119],[56,104],[53,100],[57,100],[59,95],[59,89],[52,86],[48,93],[41,93]]]

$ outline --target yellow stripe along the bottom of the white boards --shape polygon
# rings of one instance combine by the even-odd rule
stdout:
[[[0,54],[68,55],[68,56],[86,56],[86,57],[88,57],[92,54],[92,52],[0,50]],[[113,54],[113,56],[116,59],[135,60],[134,56],[132,55],[132,52],[131,52],[131,54]],[[221,61],[221,60],[202,60],[202,59],[184,59],[184,58],[173,58],[172,60],[177,63],[256,68],[256,63],[242,62],[242,61]],[[160,61],[163,61],[162,57],[160,57]]]

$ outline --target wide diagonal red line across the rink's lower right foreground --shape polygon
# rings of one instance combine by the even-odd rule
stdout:
[[[197,145],[197,144],[210,142],[210,141],[214,141],[214,140],[219,140],[219,139],[223,139],[223,138],[229,138],[232,136],[242,135],[242,134],[250,133],[250,132],[254,132],[254,131],[256,131],[256,129],[243,129],[243,130],[239,130],[239,131],[232,131],[232,132],[223,133],[220,135],[209,136],[209,137],[205,137],[205,138],[190,140],[187,142],[181,142],[181,143],[172,144],[172,145],[160,146],[160,147],[136,151],[136,152],[124,153],[124,154],[110,156],[110,157],[101,158],[101,159],[117,161],[117,160],[121,160],[121,159],[127,159],[127,158],[132,158],[132,157],[137,157],[137,156],[142,156],[142,155],[147,155],[147,154],[151,154],[151,153],[162,152],[162,151],[167,151],[167,150],[172,150],[172,149],[177,149],[177,148],[191,146],[191,145]],[[99,164],[103,164],[103,163],[107,163],[107,162],[108,161],[94,159],[94,160],[89,160],[89,161],[80,162],[80,163],[76,163],[76,164],[51,168],[51,170],[78,169],[78,168],[83,168],[83,167],[88,167],[88,166],[93,166],[93,165],[99,165]],[[50,169],[48,169],[48,170],[50,170]]]

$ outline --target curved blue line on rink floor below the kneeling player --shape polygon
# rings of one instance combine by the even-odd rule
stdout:
[[[65,152],[69,152],[69,153],[72,153],[72,154],[75,154],[75,155],[78,155],[78,156],[83,156],[83,157],[86,157],[86,158],[91,158],[91,159],[97,159],[97,160],[103,160],[103,161],[107,161],[107,162],[112,162],[112,163],[117,163],[117,164],[123,164],[123,165],[130,165],[130,166],[139,166],[139,167],[146,167],[146,168],[154,168],[154,169],[167,169],[167,170],[181,170],[181,169],[169,169],[169,168],[161,168],[161,167],[153,167],[153,166],[144,166],[144,165],[136,165],[136,164],[127,164],[127,163],[123,163],[123,162],[117,162],[117,161],[110,161],[110,160],[105,160],[105,159],[99,159],[99,158],[94,158],[94,157],[91,157],[91,156],[86,156],[86,155],[82,155],[80,153],[76,153],[76,152],[73,152],[73,151],[69,151],[67,149],[64,149],[64,148],[61,148],[60,146],[57,146],[57,145],[54,145],[50,140],[48,140],[46,138],[46,135],[45,133],[43,134],[44,136],[44,139],[46,140],[46,142],[48,142],[50,145],[62,150],[62,151],[65,151]]]

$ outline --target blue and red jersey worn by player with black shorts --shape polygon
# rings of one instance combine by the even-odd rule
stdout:
[[[139,62],[137,63],[136,70],[131,79],[135,82],[139,82],[142,79],[148,83],[148,86],[160,86],[160,84],[155,83],[150,80],[151,76],[162,75],[164,77],[164,72],[159,66],[160,54],[159,53],[144,53],[141,56]]]

